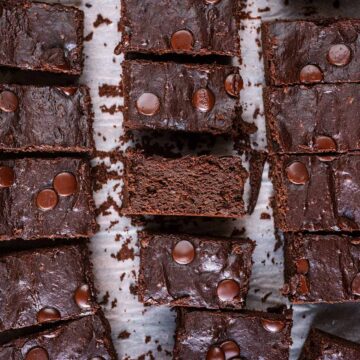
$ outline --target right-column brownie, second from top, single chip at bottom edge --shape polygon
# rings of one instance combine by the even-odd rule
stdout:
[[[268,87],[264,102],[272,153],[360,149],[359,84]]]

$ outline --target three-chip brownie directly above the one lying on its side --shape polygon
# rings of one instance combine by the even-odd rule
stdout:
[[[239,118],[239,68],[149,61],[123,64],[126,129],[230,134]]]

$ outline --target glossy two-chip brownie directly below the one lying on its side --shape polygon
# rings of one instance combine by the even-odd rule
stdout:
[[[208,309],[245,305],[253,241],[143,233],[140,244],[142,302]]]

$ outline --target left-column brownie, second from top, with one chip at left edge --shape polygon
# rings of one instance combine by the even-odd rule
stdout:
[[[89,89],[0,85],[0,151],[93,151]]]

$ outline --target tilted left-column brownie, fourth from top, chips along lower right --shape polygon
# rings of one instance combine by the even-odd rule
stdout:
[[[74,319],[96,310],[85,243],[0,256],[0,341],[14,330]]]

